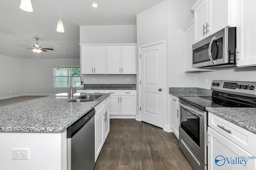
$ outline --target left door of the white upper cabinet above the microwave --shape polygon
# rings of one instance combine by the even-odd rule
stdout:
[[[194,43],[206,37],[207,0],[202,0],[194,8]]]

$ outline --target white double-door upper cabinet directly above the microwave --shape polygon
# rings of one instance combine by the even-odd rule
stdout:
[[[236,0],[197,0],[194,10],[194,43],[228,26],[236,26]]]

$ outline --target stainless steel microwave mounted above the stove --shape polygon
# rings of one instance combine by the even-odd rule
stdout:
[[[194,68],[236,66],[236,27],[226,27],[192,45]]]

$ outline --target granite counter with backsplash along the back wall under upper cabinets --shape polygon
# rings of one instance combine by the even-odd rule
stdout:
[[[82,90],[136,90],[136,84],[84,84]]]

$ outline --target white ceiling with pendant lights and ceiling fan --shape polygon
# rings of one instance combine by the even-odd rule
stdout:
[[[136,24],[136,14],[162,0],[61,0],[64,33],[56,31],[59,0],[31,0],[34,12],[21,10],[20,0],[0,0],[0,55],[36,58],[35,37],[42,48],[40,58],[79,58],[79,25]],[[99,4],[98,8],[91,6]],[[28,47],[29,48],[29,47]],[[69,54],[68,56],[65,54]]]

